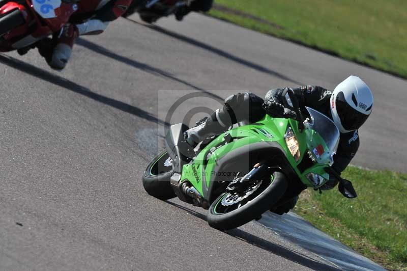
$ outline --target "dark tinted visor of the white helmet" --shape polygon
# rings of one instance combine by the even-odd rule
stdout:
[[[369,117],[369,115],[360,113],[348,104],[343,92],[339,92],[336,96],[336,111],[342,127],[349,131],[358,129]]]

